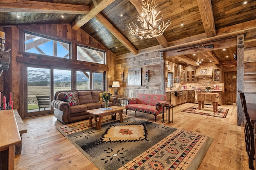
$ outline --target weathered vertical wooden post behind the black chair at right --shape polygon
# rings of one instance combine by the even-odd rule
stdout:
[[[236,106],[237,106],[237,125],[244,123],[244,113],[238,90],[244,91],[244,34],[237,36],[237,76],[236,76]]]

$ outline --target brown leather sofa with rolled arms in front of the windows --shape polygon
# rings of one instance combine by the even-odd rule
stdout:
[[[54,107],[54,116],[64,124],[74,121],[88,119],[89,115],[86,110],[98,109],[105,107],[104,102],[100,102],[100,93],[102,90],[66,90],[58,91],[54,95],[54,100],[51,102]],[[64,93],[74,93],[76,95],[76,106],[70,106],[66,102]],[[110,97],[108,106],[116,106],[117,98]]]

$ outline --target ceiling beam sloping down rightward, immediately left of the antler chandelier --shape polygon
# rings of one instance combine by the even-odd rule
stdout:
[[[102,14],[97,14],[95,18],[112,33],[128,50],[137,54],[138,50],[106,19]]]

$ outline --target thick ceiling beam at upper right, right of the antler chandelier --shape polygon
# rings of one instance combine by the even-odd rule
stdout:
[[[212,2],[211,0],[197,0],[197,3],[206,36],[214,37],[216,35],[216,29],[212,12]]]

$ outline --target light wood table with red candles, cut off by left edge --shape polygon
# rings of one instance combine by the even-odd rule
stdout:
[[[0,160],[0,169],[8,167],[8,170],[13,170],[15,145],[21,143],[13,110],[0,110],[0,137],[0,154],[6,153],[3,151],[8,150],[8,162]]]

